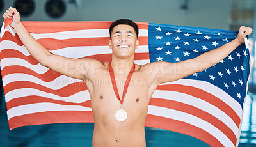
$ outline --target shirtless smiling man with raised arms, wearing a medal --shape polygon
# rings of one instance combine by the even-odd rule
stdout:
[[[13,17],[10,26],[17,31],[26,49],[41,65],[68,77],[82,79],[86,83],[94,116],[92,144],[95,147],[146,146],[145,118],[148,103],[156,87],[161,83],[175,81],[215,65],[243,43],[246,35],[252,32],[251,28],[241,26],[235,40],[194,59],[178,63],[161,61],[141,66],[133,63],[134,51],[138,48],[139,41],[138,27],[131,20],[117,20],[111,25],[109,49],[113,53],[109,64],[95,59],[69,59],[51,54],[29,35],[20,22],[19,12],[15,8],[6,10],[3,17],[4,19]],[[131,70],[134,70],[133,74]],[[128,84],[125,95],[124,82],[116,81],[125,81],[127,77],[131,77],[131,84]],[[99,79],[104,80],[104,83],[95,84]],[[134,80],[142,80],[145,83],[132,84]],[[115,83],[118,92],[114,92]],[[124,100],[122,105],[117,98],[118,94],[120,99]],[[122,98],[122,95],[125,97]],[[120,109],[127,114],[124,111],[118,113]]]

